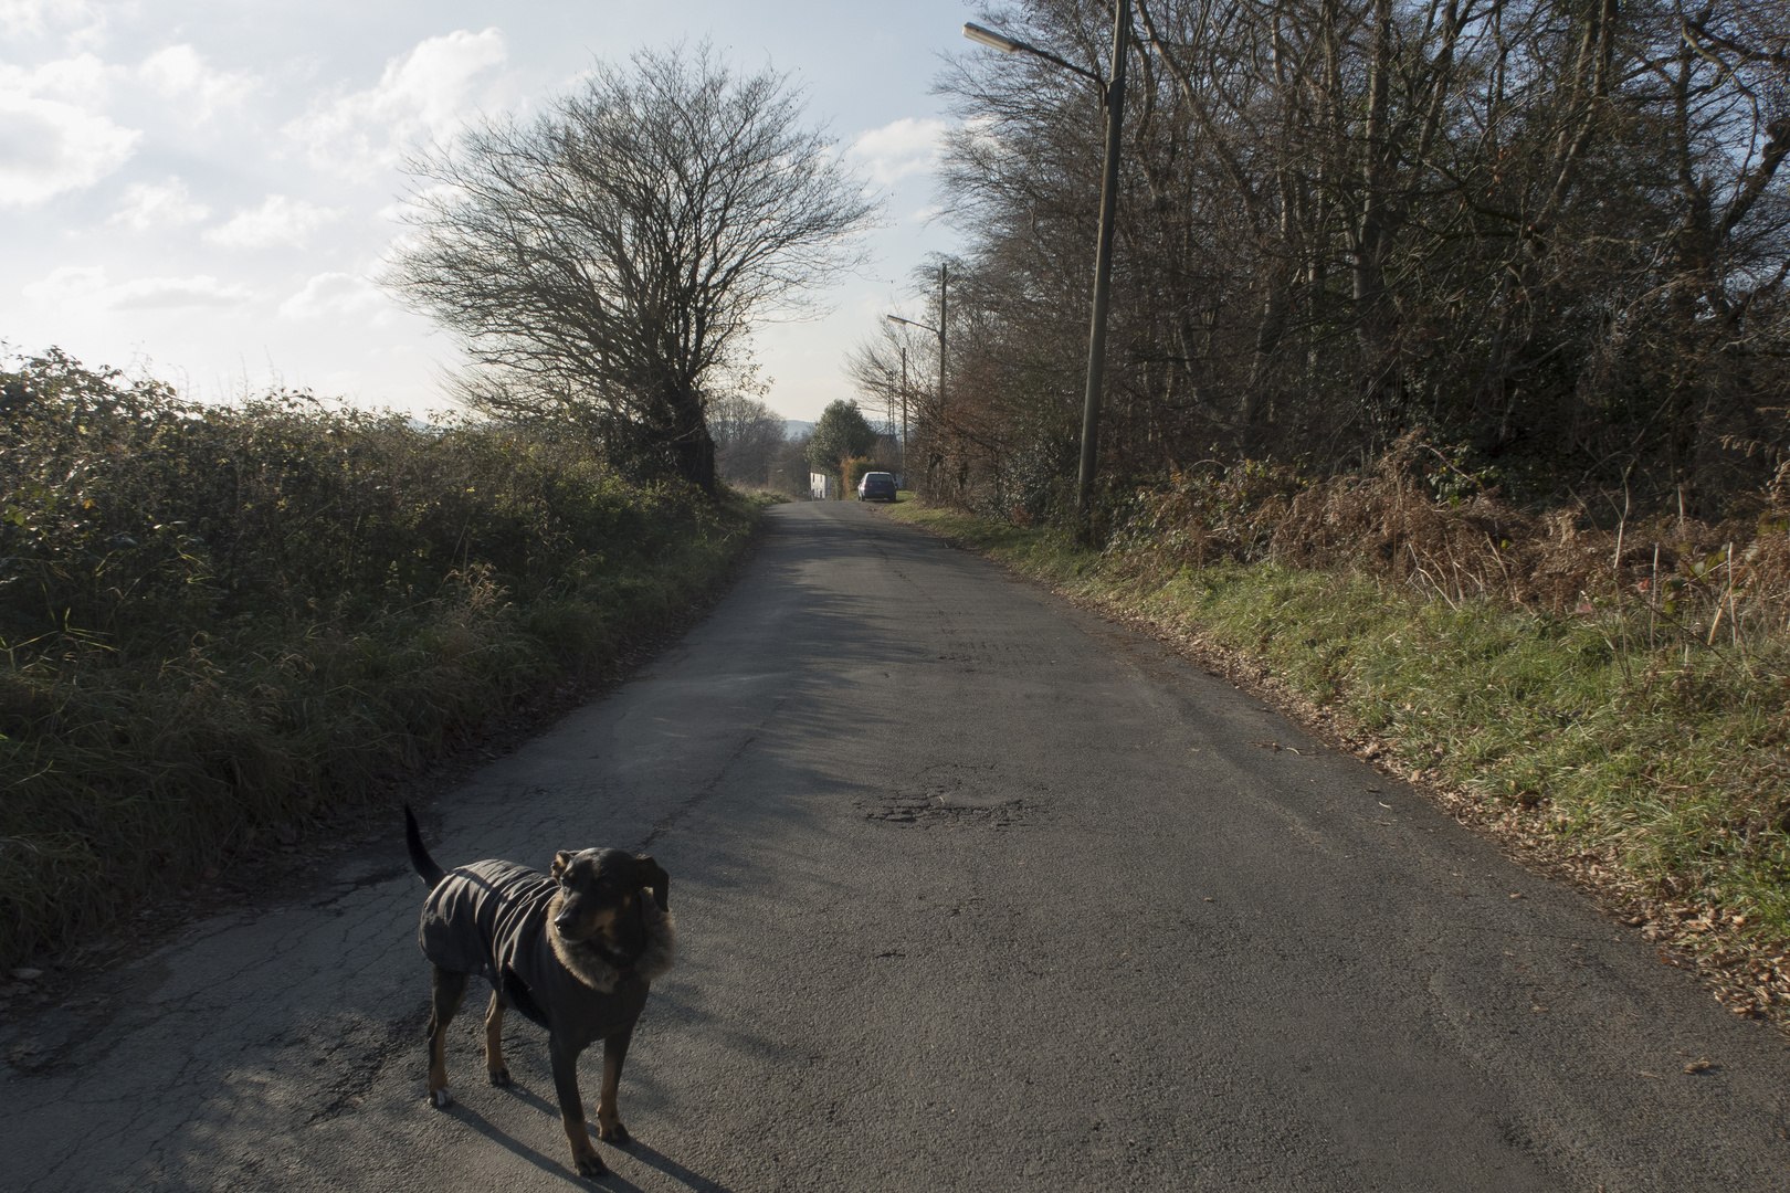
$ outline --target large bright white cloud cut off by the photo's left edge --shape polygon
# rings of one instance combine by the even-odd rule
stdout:
[[[136,152],[141,132],[70,102],[102,89],[104,66],[91,55],[32,72],[0,64],[0,206],[93,186]]]

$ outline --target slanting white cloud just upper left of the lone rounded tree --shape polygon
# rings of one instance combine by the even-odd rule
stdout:
[[[290,122],[285,134],[315,166],[369,175],[394,165],[412,141],[451,136],[473,102],[474,82],[505,57],[498,29],[430,38],[390,59],[376,86],[317,107]]]

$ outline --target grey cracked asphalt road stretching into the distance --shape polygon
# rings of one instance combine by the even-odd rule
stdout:
[[[705,622],[426,816],[449,866],[671,873],[603,1188],[1790,1188],[1785,1037],[1579,894],[968,553],[770,517]],[[394,826],[9,1028],[0,1186],[582,1184],[517,1018],[514,1089],[469,1009],[424,1105],[419,905]]]

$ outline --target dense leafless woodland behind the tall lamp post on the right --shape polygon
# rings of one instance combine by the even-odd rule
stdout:
[[[1718,515],[1790,460],[1783,0],[1135,0],[1103,476],[1353,469],[1423,427],[1548,501]],[[1104,72],[1101,0],[1002,30]],[[1101,120],[954,59],[936,495],[1053,508],[1079,406]],[[958,302],[961,295],[961,302]],[[961,308],[961,315],[958,315]],[[850,368],[888,392],[899,358]],[[940,467],[942,465],[942,467]]]

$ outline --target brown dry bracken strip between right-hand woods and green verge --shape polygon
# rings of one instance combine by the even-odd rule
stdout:
[[[1790,469],[1742,503],[1749,517],[1715,526],[1661,512],[1631,519],[1618,501],[1604,504],[1516,510],[1407,435],[1355,476],[1310,481],[1249,461],[1176,472],[1121,503],[1108,553],[1348,571],[1452,606],[1611,612],[1620,633],[1645,635],[1647,649],[1672,642],[1740,667],[1781,653],[1790,640]]]

